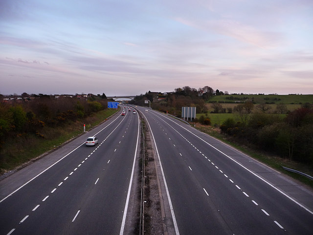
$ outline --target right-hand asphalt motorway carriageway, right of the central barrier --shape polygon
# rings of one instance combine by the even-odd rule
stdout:
[[[154,138],[172,234],[313,234],[312,191],[181,121],[138,109]]]

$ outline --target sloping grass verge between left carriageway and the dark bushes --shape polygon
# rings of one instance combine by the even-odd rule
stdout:
[[[84,120],[69,122],[59,127],[45,127],[40,133],[41,137],[35,134],[21,134],[12,140],[7,140],[0,149],[0,174],[32,161],[45,152],[82,134],[84,124],[86,124],[86,131],[88,131],[117,111],[116,109],[106,109]]]

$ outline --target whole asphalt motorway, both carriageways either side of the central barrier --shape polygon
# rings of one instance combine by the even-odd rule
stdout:
[[[134,108],[152,138],[168,235],[313,234],[312,190],[179,120]],[[139,118],[120,113],[0,181],[0,235],[130,234]],[[85,146],[93,135],[99,143]]]

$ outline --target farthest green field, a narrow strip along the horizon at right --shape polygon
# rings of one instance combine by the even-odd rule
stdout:
[[[233,99],[229,99],[230,97]],[[228,97],[228,98],[227,98]],[[255,104],[261,103],[273,103],[273,104],[305,104],[313,103],[313,94],[227,94],[227,95],[214,95],[207,103],[211,102],[236,102],[242,101],[246,102],[248,100],[253,100]]]

